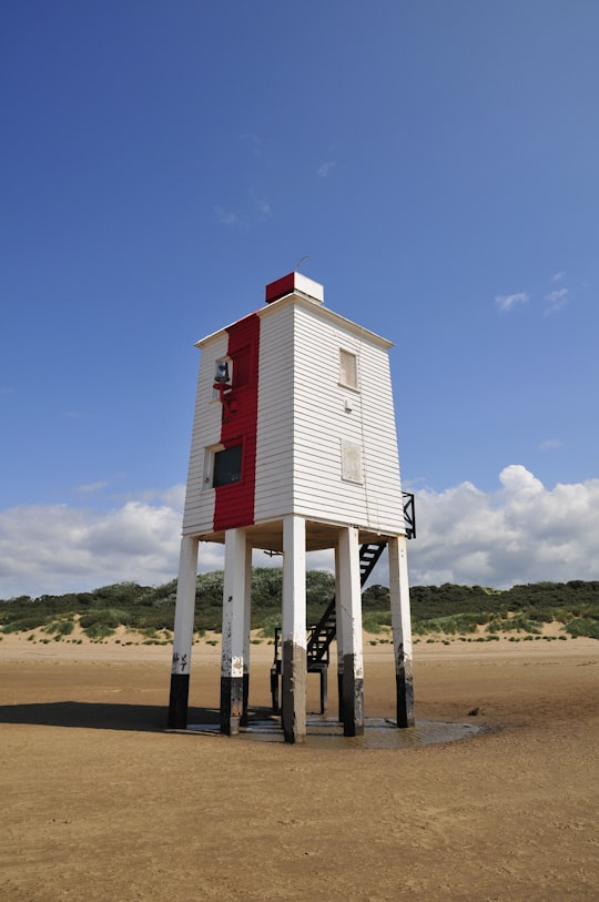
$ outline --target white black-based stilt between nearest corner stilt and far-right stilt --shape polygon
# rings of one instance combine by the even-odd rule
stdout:
[[[364,652],[358,530],[339,529],[338,584],[343,640],[343,732],[364,732]]]

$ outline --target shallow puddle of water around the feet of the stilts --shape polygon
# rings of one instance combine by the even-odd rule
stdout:
[[[354,749],[413,749],[436,742],[456,742],[476,736],[480,730],[474,723],[448,723],[445,721],[417,720],[414,727],[397,729],[395,721],[386,718],[365,718],[364,734],[346,737],[343,724],[323,717],[306,719],[306,744],[311,748]],[[221,736],[213,723],[195,723],[187,731]],[[235,739],[235,737],[233,737]],[[277,720],[256,720],[242,727],[238,737],[261,742],[284,742]]]

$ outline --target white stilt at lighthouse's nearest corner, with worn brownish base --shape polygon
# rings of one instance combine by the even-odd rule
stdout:
[[[306,736],[306,524],[283,520],[282,723],[285,742]]]

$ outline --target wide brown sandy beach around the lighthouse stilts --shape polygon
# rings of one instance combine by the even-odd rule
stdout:
[[[0,900],[595,900],[598,651],[420,642],[417,718],[485,729],[364,749],[167,732],[170,648],[6,636]],[[253,647],[255,710],[271,655]],[[219,680],[195,647],[192,722]],[[365,646],[365,709],[393,717],[389,646]]]

